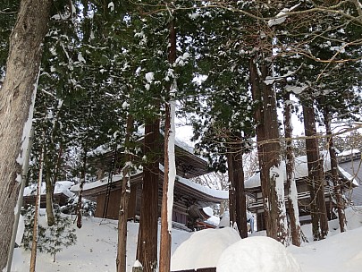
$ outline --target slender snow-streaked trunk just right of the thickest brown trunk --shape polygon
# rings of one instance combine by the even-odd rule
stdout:
[[[295,182],[295,161],[293,152],[292,137],[292,125],[291,125],[291,101],[290,93],[285,92],[284,94],[284,132],[285,132],[285,157],[286,157],[286,191],[288,199],[288,214],[290,219],[290,234],[291,242],[295,246],[300,246],[300,223],[299,223],[299,207],[298,207],[298,191]]]

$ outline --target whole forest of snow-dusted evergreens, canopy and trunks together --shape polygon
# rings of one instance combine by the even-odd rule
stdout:
[[[324,239],[328,225],[320,149],[330,152],[336,169],[335,148],[359,149],[361,142],[361,7],[359,0],[3,0],[0,269],[6,267],[21,182],[34,183],[41,174],[48,225],[54,225],[55,182],[87,183],[96,175],[88,152],[106,144],[122,146],[124,153],[117,162],[123,173],[117,271],[126,269],[129,177],[139,166],[137,259],[145,271],[170,271],[167,200],[175,179],[175,116],[193,126],[195,152],[208,158],[210,170],[228,174],[231,225],[242,238],[248,236],[243,157],[257,150],[266,233],[285,245],[300,245],[293,167],[295,156],[307,155],[313,236]],[[298,140],[293,139],[291,115],[304,123],[305,136]],[[336,132],[336,123],[346,126]],[[141,125],[145,136],[139,148]],[[349,132],[350,139],[341,138],[342,132]],[[158,258],[160,157],[164,199]],[[282,159],[287,162],[286,191]],[[343,231],[334,172],[333,183]],[[81,227],[81,191],[79,199]]]

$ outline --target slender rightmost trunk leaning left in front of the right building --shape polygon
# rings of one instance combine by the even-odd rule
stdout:
[[[324,106],[324,125],[327,134],[329,155],[331,157],[331,174],[333,180],[333,191],[336,198],[336,206],[338,212],[338,220],[340,223],[340,230],[341,233],[343,233],[347,230],[347,222],[346,222],[346,215],[344,214],[344,201],[341,197],[341,183],[338,177],[338,161],[333,146],[331,122],[332,122],[332,115],[329,112],[327,106]]]

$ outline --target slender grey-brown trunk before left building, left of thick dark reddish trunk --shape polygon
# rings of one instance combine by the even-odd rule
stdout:
[[[126,139],[124,140],[124,156],[125,165],[122,169],[122,194],[120,202],[120,211],[118,214],[118,248],[116,269],[117,272],[126,272],[127,257],[127,219],[128,219],[128,203],[130,200],[130,166],[132,157],[130,154],[130,134],[133,128],[133,118],[128,115],[126,127]]]

